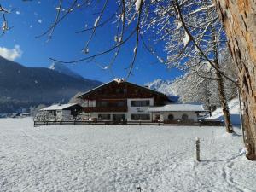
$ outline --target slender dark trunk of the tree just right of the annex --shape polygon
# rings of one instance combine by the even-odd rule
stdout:
[[[218,65],[216,65],[216,67],[218,67]],[[217,74],[217,82],[218,82],[218,97],[219,97],[219,101],[220,101],[222,111],[224,114],[224,122],[225,122],[226,131],[228,133],[232,133],[233,127],[232,127],[232,123],[230,120],[230,109],[229,109],[228,102],[227,102],[227,99],[226,99],[226,96],[224,93],[224,79],[218,71],[216,72],[216,74]]]

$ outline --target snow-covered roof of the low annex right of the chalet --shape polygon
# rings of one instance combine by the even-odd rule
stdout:
[[[148,108],[149,112],[172,112],[172,111],[206,111],[203,105],[198,104],[169,104],[162,107]]]

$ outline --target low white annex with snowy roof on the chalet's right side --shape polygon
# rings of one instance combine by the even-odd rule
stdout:
[[[153,121],[163,122],[197,122],[201,115],[208,113],[201,104],[169,104],[149,108],[148,112],[152,113]]]

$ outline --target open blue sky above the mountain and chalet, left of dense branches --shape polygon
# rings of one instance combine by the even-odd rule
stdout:
[[[34,0],[32,2],[2,0],[2,6],[12,10],[12,13],[7,15],[9,27],[12,28],[0,38],[0,53],[12,55],[15,61],[26,67],[49,67],[52,63],[49,60],[50,57],[61,61],[73,61],[87,56],[81,50],[84,48],[90,32],[79,34],[75,32],[84,29],[84,26],[91,27],[94,25],[97,15],[92,15],[92,13],[97,12],[98,9],[94,9],[93,6],[90,9],[80,9],[69,15],[55,29],[54,36],[50,41],[47,41],[47,36],[35,38],[52,25],[55,20],[57,2],[56,0]],[[108,6],[108,11],[104,17],[107,19],[114,9],[114,6]],[[114,25],[97,30],[96,36],[89,46],[88,55],[96,54],[113,45],[113,32],[115,30]],[[129,66],[131,61],[134,44],[134,39],[131,39],[121,49],[121,54],[113,66],[113,74],[109,70],[102,69],[108,65],[109,55],[96,58],[95,61],[83,61],[67,64],[67,66],[88,79],[108,82],[113,77],[123,78],[127,73],[125,68]],[[159,45],[155,49],[160,51],[163,47]],[[164,55],[164,53],[160,51],[160,55]],[[167,69],[164,64],[156,61],[153,55],[150,55],[147,50],[143,49],[143,46],[140,46],[136,66],[129,81],[145,84],[154,79],[172,80],[181,75],[177,69]]]

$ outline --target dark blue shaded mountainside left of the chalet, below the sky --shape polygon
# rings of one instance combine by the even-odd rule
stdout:
[[[102,84],[78,79],[43,67],[24,67],[0,57],[0,113],[40,103],[67,102],[79,91]]]

